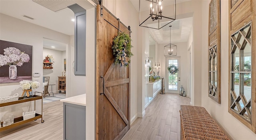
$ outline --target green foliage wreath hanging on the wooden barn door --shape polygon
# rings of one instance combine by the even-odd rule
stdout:
[[[118,33],[118,35],[113,39],[113,55],[115,57],[115,64],[119,63],[121,66],[128,66],[130,63],[130,57],[133,56],[131,52],[132,39],[130,39],[129,35],[124,32]]]

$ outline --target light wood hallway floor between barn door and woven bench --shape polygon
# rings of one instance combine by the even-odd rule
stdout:
[[[180,105],[190,105],[190,98],[158,94],[122,140],[180,140]]]

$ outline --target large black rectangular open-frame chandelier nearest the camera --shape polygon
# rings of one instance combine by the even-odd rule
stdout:
[[[176,0],[139,0],[139,26],[159,30],[174,20]]]

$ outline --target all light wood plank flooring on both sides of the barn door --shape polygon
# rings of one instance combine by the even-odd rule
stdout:
[[[158,94],[123,140],[180,140],[180,105],[190,105],[190,98]],[[0,132],[0,140],[63,140],[63,103],[44,104],[43,119]]]

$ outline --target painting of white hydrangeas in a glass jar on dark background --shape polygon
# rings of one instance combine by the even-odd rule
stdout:
[[[32,45],[0,40],[0,83],[32,80]]]

